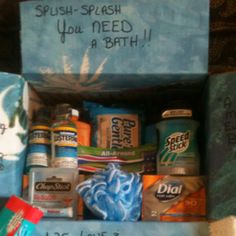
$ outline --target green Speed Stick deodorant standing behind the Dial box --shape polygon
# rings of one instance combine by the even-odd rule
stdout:
[[[170,108],[162,112],[162,120],[156,125],[159,133],[157,174],[199,175],[198,126],[189,108]]]

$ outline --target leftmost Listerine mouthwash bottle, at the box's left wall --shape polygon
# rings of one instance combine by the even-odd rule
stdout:
[[[26,172],[32,167],[48,167],[51,154],[51,117],[49,108],[41,108],[30,128]]]

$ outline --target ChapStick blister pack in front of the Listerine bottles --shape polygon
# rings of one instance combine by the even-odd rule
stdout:
[[[68,168],[32,168],[29,176],[29,201],[45,217],[74,218],[78,171]]]

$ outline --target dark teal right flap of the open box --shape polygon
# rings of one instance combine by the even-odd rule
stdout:
[[[206,106],[208,217],[236,215],[236,73],[210,76]]]

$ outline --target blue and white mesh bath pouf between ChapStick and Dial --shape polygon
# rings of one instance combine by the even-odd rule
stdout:
[[[137,221],[140,217],[141,177],[120,170],[117,164],[108,164],[106,169],[80,183],[77,192],[88,209],[100,219]]]

